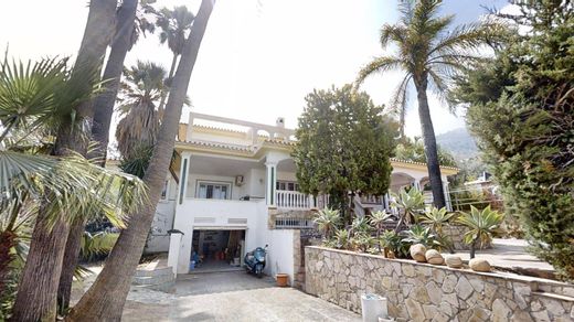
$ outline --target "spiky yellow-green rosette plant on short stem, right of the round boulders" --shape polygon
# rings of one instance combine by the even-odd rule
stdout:
[[[492,240],[492,234],[500,233],[499,228],[503,214],[492,211],[490,206],[482,211],[470,206],[470,213],[461,213],[457,222],[467,226],[469,230],[465,233],[465,243],[470,245],[470,258],[475,258],[476,246],[482,246]]]

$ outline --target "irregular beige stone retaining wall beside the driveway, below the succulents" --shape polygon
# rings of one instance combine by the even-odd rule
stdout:
[[[306,291],[354,312],[362,293],[397,321],[574,321],[572,285],[308,246]]]

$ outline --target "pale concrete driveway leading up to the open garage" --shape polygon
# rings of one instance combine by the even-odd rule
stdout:
[[[147,293],[139,301],[130,293],[123,321],[361,321],[353,312],[244,271],[180,277],[169,301],[152,303],[151,298]]]

